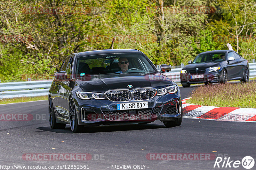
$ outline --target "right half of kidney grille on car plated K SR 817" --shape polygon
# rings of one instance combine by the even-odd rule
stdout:
[[[133,90],[132,96],[134,100],[147,100],[154,97],[156,94],[155,89],[136,89]]]

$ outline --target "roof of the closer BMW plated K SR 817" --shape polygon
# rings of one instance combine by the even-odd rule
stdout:
[[[113,54],[113,53],[142,53],[136,49],[108,49],[108,50],[93,50],[77,53],[78,57],[98,55],[98,54]]]

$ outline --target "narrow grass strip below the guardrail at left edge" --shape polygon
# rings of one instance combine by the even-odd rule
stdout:
[[[30,101],[47,100],[47,99],[48,99],[48,96],[19,97],[19,98],[11,98],[11,99],[0,99],[0,104],[30,102]]]

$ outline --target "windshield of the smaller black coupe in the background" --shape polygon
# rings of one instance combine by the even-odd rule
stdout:
[[[225,53],[205,53],[196,56],[192,63],[220,62],[225,60]]]

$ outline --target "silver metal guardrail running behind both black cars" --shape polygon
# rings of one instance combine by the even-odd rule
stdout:
[[[256,63],[249,63],[250,78],[256,76]],[[174,82],[180,83],[180,70],[182,68],[173,68],[170,72],[164,73]],[[14,97],[34,97],[47,96],[52,80],[45,81],[22,81],[0,83],[0,99]]]

